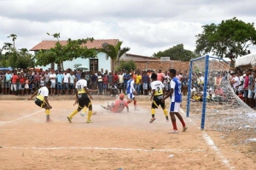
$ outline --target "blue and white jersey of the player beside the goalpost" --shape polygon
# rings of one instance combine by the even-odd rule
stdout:
[[[181,94],[181,82],[177,77],[172,78],[170,82],[171,88],[173,88],[173,93],[171,96],[171,102],[182,102],[182,94]]]

